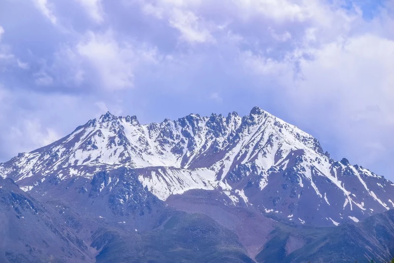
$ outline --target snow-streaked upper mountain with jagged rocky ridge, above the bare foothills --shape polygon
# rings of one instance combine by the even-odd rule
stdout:
[[[54,175],[93,178],[119,167],[134,169],[164,201],[192,189],[220,190],[228,205],[290,223],[338,225],[394,208],[392,182],[331,159],[313,136],[258,107],[244,117],[190,114],[148,125],[108,112],[0,164],[0,174],[34,191]]]

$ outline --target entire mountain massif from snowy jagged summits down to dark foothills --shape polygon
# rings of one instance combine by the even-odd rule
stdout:
[[[0,259],[10,262],[340,262],[357,256],[335,254],[339,243],[364,259],[394,254],[394,184],[331,159],[316,138],[258,107],[244,117],[190,114],[148,125],[108,112],[1,163],[0,175],[24,191],[12,190],[10,181],[0,193],[19,191],[43,207],[54,227],[40,220],[48,235],[39,238],[57,238],[51,242],[62,248],[19,255],[12,248],[44,247],[13,236],[14,247],[0,246]],[[22,222],[24,215],[9,211],[15,218],[11,212],[6,218]],[[368,222],[381,226],[373,237]],[[361,239],[342,242],[333,231]]]

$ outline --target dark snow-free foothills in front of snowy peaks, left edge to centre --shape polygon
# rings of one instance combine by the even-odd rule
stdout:
[[[233,232],[208,216],[166,208],[130,175],[99,172],[88,185],[68,181],[66,189],[51,180],[65,191],[52,190],[59,195],[44,195],[43,203],[0,178],[0,262],[253,262]],[[100,191],[112,179],[112,191]],[[81,187],[87,191],[78,194]]]

